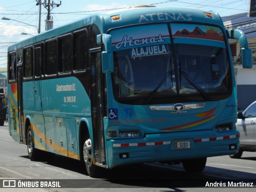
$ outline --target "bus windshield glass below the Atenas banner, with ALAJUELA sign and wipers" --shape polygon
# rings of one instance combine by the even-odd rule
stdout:
[[[191,28],[190,24],[188,26]],[[230,92],[228,58],[221,39],[208,36],[195,40],[194,36],[186,34],[184,37],[177,32],[169,38],[173,41],[168,44],[114,51],[116,98],[139,97],[145,98],[147,103],[155,97],[199,95],[201,100],[210,100],[213,94]]]

